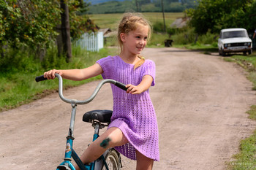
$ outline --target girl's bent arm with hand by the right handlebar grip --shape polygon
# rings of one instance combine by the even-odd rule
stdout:
[[[150,88],[151,84],[153,82],[153,77],[151,77],[150,75],[145,75],[142,78],[142,81],[140,82],[139,85],[127,85],[126,87],[127,89],[127,93],[131,93],[131,94],[140,94],[143,93],[144,91],[148,90],[148,88]]]

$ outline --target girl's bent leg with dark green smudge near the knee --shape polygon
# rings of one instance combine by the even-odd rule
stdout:
[[[108,148],[121,146],[127,144],[127,142],[127,138],[119,128],[109,128],[104,134],[99,136],[99,138],[89,145],[80,156],[80,160],[83,163],[91,163],[97,160],[97,158],[108,150]],[[75,169],[79,169],[78,166],[75,166]]]

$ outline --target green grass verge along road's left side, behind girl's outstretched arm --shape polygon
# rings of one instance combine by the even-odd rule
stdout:
[[[46,96],[53,91],[58,89],[58,81],[50,80],[43,82],[35,82],[34,78],[42,75],[43,72],[48,69],[75,69],[75,68],[85,68],[87,66],[91,66],[95,63],[99,58],[105,57],[107,55],[113,55],[116,53],[113,49],[102,49],[99,53],[87,52],[85,50],[81,50],[78,47],[72,48],[72,62],[66,63],[65,61],[61,61],[61,66],[48,66],[48,68],[43,68],[41,63],[34,63],[33,72],[30,71],[29,66],[25,66],[23,69],[18,70],[9,70],[8,72],[0,73],[0,112],[6,109],[11,109],[18,107],[22,104],[27,104],[33,100],[38,98],[42,98],[42,96]],[[20,58],[26,58],[26,55],[29,53],[20,54]],[[54,58],[52,55],[46,56],[46,58]],[[30,60],[34,60],[34,57],[31,56]],[[28,60],[26,60],[29,62]],[[47,63],[47,62],[46,62]],[[20,65],[24,65],[26,63],[20,63]],[[18,67],[18,66],[17,66]],[[36,69],[34,69],[36,68]],[[69,88],[77,85],[81,85],[86,82],[90,82],[93,80],[101,79],[100,76],[93,77],[89,80],[83,80],[80,82],[75,82],[71,80],[64,80],[64,88]]]

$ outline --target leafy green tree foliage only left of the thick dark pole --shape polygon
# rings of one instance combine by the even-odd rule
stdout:
[[[56,36],[59,4],[55,0],[0,1],[0,50],[29,47],[39,52]]]

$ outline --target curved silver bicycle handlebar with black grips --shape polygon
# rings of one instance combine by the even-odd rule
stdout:
[[[121,88],[122,90],[127,90],[127,88],[125,87],[125,85],[123,83],[118,82],[116,80],[105,79],[105,80],[102,80],[101,82],[99,82],[99,84],[97,85],[97,88],[95,88],[94,92],[91,94],[91,96],[88,99],[83,100],[83,101],[79,101],[76,99],[68,99],[63,96],[63,88],[62,88],[63,81],[62,81],[61,75],[56,73],[55,76],[58,77],[58,79],[59,79],[59,97],[61,98],[62,101],[65,101],[66,103],[69,103],[69,104],[88,104],[90,101],[92,101],[95,98],[95,96],[99,92],[100,88],[102,88],[102,85],[104,85],[105,83],[111,83],[113,85],[116,85],[118,88]],[[36,77],[35,80],[36,80],[36,82],[40,82],[40,81],[44,81],[44,80],[48,80],[48,79],[46,79],[42,75],[42,76]]]

